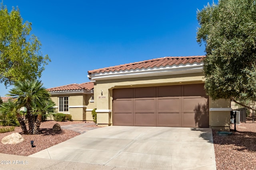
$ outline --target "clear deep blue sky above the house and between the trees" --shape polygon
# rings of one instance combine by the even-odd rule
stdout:
[[[197,9],[208,0],[4,0],[52,62],[44,87],[89,82],[87,71],[166,56],[205,55],[196,42]],[[210,1],[212,3],[212,1]],[[0,96],[8,90],[0,84]]]

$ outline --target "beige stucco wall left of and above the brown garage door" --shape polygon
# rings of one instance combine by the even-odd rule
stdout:
[[[114,88],[204,83],[203,76],[203,73],[190,73],[167,76],[97,80],[97,84],[94,85],[94,101],[96,102],[97,107],[97,123],[99,125],[112,125],[113,123],[112,89]]]

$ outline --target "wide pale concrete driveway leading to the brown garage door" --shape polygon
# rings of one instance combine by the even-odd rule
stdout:
[[[216,170],[210,128],[108,126],[30,157],[140,170]]]

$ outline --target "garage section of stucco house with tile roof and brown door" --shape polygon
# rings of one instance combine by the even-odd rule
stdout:
[[[94,84],[98,125],[211,127],[229,131],[230,100],[212,100],[206,95],[204,58],[163,57],[88,71]],[[54,100],[57,102],[57,97]]]

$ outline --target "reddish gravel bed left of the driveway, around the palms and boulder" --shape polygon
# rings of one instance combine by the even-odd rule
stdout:
[[[60,124],[60,127],[63,125],[81,124],[81,123],[84,123],[86,125],[84,121],[64,121],[64,122],[45,121],[45,122],[42,122],[40,125],[41,134],[39,135],[24,135],[22,134],[22,130],[20,127],[15,127],[15,130],[12,132],[0,133],[0,140],[2,140],[2,138],[6,137],[7,135],[17,132],[17,133],[21,133],[22,137],[24,138],[24,141],[21,143],[12,144],[12,145],[10,144],[4,145],[0,142],[0,153],[28,156],[30,154],[34,154],[41,150],[57,145],[58,143],[64,142],[77,135],[80,135],[80,133],[78,132],[70,131],[66,129],[61,129],[58,132],[54,132],[52,131],[52,127],[56,123]],[[89,127],[92,127],[92,126],[96,126],[96,125],[89,125]],[[30,141],[34,141],[34,145],[36,147],[32,148],[30,145]]]

